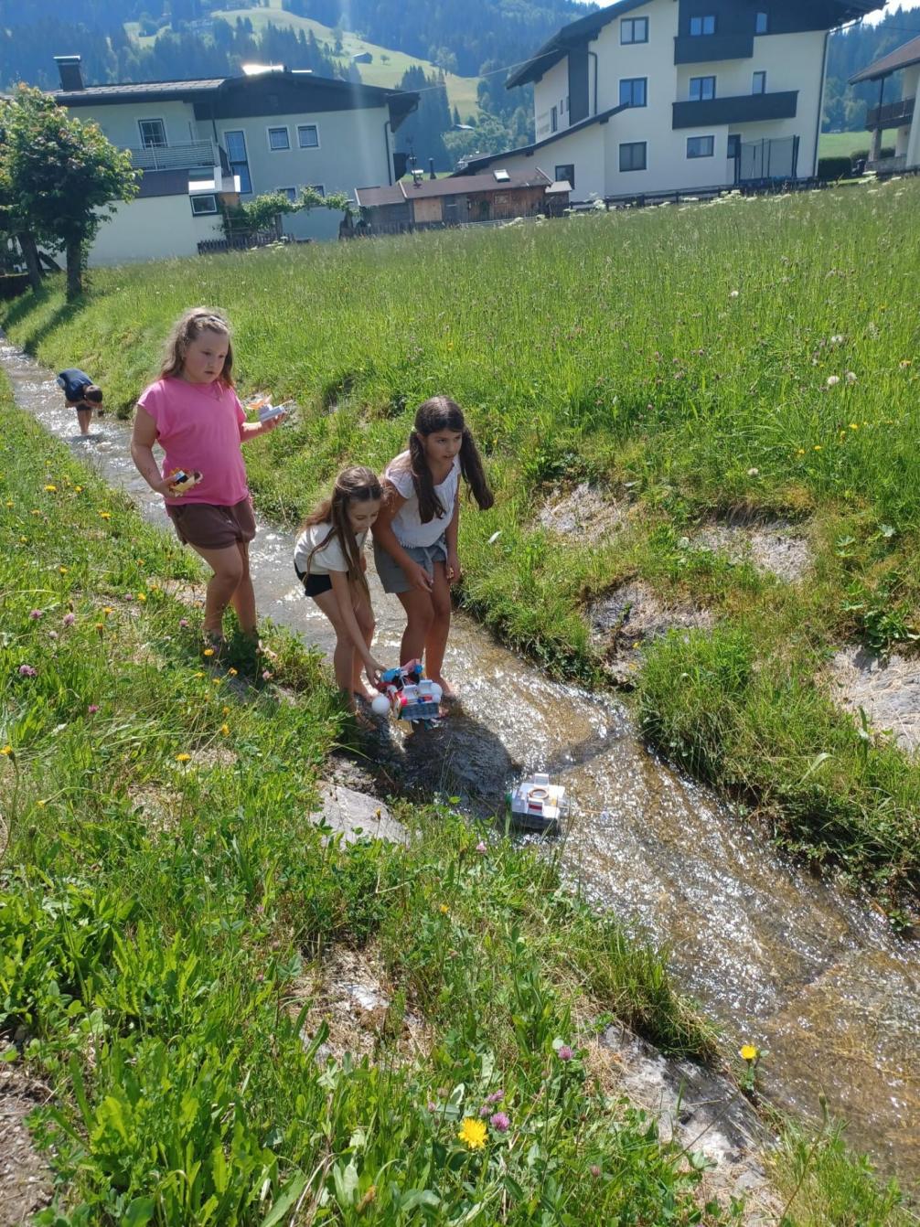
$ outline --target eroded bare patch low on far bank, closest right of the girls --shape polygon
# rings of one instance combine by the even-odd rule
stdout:
[[[595,601],[588,610],[591,637],[606,653],[606,670],[619,686],[632,686],[640,650],[669,631],[713,626],[709,610],[689,601],[665,602],[642,580],[631,580]]]

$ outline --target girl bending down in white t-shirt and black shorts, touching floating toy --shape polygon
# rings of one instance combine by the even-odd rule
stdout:
[[[343,469],[331,498],[307,517],[294,546],[294,571],[307,596],[335,627],[335,680],[355,709],[356,698],[378,692],[361,680],[362,663],[373,682],[383,665],[370,655],[374,611],[364,572],[364,540],[380,510],[383,490],[372,469]]]

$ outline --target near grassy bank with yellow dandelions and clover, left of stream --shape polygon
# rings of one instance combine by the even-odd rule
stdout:
[[[5,393],[0,488],[0,1055],[54,1092],[40,1222],[737,1217],[573,1021],[711,1053],[661,957],[450,814],[412,809],[407,848],[326,840],[346,730],[316,659],[202,667],[189,555]],[[373,1061],[330,1060],[313,964],[368,944]]]

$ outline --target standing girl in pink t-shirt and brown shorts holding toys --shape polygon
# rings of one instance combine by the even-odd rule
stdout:
[[[166,499],[179,540],[190,545],[213,575],[205,598],[205,638],[223,647],[223,611],[233,605],[244,634],[255,634],[255,594],[249,542],[255,536],[253,503],[240,443],[267,434],[283,415],[247,422],[233,390],[229,325],[217,312],[185,312],[169,336],[159,379],[137,401],[131,458],[137,471]],[[158,443],[162,471],[153,458]],[[184,474],[185,480],[179,480]]]

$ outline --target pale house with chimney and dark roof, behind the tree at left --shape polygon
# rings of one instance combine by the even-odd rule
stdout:
[[[83,85],[80,56],[55,56],[53,97],[94,120],[144,172],[140,195],[99,229],[90,264],[194,255],[221,238],[223,201],[301,188],[351,193],[393,183],[393,134],[418,94],[270,69],[239,77]],[[335,238],[340,216],[293,213],[293,238]]]

